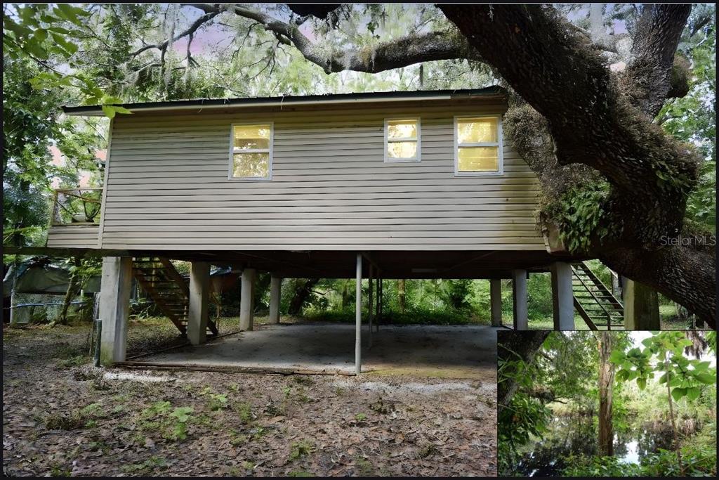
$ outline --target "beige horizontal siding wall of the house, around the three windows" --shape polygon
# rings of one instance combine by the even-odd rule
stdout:
[[[104,248],[544,250],[537,179],[505,142],[504,175],[454,175],[454,116],[437,101],[282,112],[118,115]],[[385,118],[421,118],[421,162],[385,163]],[[271,181],[228,179],[230,125],[273,122]]]

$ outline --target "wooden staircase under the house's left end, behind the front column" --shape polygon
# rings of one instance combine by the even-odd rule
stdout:
[[[132,275],[160,312],[186,336],[190,290],[172,262],[160,257],[135,258]],[[211,319],[207,320],[207,333],[217,335],[217,325]]]

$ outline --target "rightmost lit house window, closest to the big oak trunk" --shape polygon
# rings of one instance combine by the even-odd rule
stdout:
[[[455,175],[503,173],[500,117],[456,117],[454,146]]]

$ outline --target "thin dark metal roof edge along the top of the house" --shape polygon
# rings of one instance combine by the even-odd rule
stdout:
[[[234,99],[193,99],[172,101],[142,101],[134,104],[120,104],[120,107],[131,112],[148,110],[187,110],[214,109],[222,107],[282,107],[288,105],[311,104],[352,104],[370,101],[406,101],[406,100],[449,100],[458,97],[473,96],[503,96],[504,89],[499,86],[490,86],[485,89],[457,89],[457,90],[415,90],[415,91],[377,91],[358,94],[326,94],[326,95],[285,95],[265,96],[254,98]],[[86,105],[79,107],[62,107],[68,115],[101,116],[101,105]]]

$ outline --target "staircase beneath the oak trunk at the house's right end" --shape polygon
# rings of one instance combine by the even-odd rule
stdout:
[[[592,330],[622,330],[624,307],[584,262],[572,264],[574,309]]]

